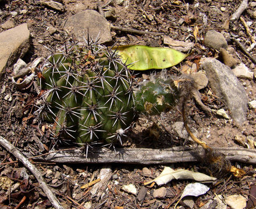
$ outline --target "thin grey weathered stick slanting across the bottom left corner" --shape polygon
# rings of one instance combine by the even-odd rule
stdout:
[[[42,178],[40,171],[37,170],[35,165],[30,163],[30,161],[25,156],[23,156],[23,154],[15,146],[13,146],[8,140],[3,138],[2,136],[0,136],[0,145],[5,147],[5,149],[8,150],[9,153],[12,153],[13,156],[18,158],[31,171],[35,178],[37,178],[40,187],[48,197],[49,201],[51,201],[52,206],[54,206],[54,208],[56,209],[63,209],[58,199],[56,199],[54,193],[52,193],[52,191],[48,188],[47,184],[44,181],[44,178]]]

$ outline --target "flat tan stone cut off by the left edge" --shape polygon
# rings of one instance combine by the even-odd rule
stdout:
[[[6,67],[22,58],[29,50],[27,23],[0,33],[0,78]]]

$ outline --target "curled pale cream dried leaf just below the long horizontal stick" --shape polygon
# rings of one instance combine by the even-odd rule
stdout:
[[[193,172],[184,169],[173,170],[170,167],[165,167],[157,178],[145,182],[144,185],[148,185],[152,182],[156,182],[158,185],[164,185],[173,179],[194,179],[195,181],[200,182],[216,180],[216,178],[202,174],[200,172]]]

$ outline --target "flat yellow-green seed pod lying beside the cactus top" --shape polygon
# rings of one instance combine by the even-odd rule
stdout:
[[[187,55],[171,48],[150,46],[118,46],[117,53],[131,70],[165,69],[175,66]]]

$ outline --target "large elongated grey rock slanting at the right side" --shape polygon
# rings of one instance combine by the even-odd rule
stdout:
[[[213,58],[202,60],[201,67],[207,74],[212,91],[223,97],[233,120],[238,124],[246,121],[248,97],[232,70]]]

